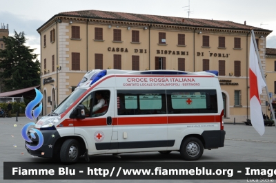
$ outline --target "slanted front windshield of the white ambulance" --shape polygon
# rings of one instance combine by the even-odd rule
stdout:
[[[55,109],[55,111],[52,111],[50,113],[50,116],[57,116],[62,114],[64,111],[66,111],[66,109],[68,109],[68,107],[70,107],[70,105],[72,105],[72,103],[75,102],[75,100],[77,100],[77,98],[79,96],[81,96],[81,94],[83,94],[84,92],[86,92],[86,89],[75,89],[74,92],[72,92],[66,99],[64,99],[62,101],[62,103]]]

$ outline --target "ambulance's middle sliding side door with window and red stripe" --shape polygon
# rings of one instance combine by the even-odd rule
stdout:
[[[117,89],[118,153],[165,151],[166,90]]]

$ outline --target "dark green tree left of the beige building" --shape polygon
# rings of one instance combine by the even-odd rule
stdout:
[[[24,32],[14,30],[14,36],[3,36],[5,50],[0,50],[0,78],[7,91],[34,87],[39,85],[40,63],[37,60],[37,54],[33,54],[35,49],[26,46],[26,37]]]

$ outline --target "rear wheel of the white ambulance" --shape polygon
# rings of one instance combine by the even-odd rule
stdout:
[[[180,154],[184,160],[195,161],[201,158],[204,147],[198,138],[189,137],[181,143]]]

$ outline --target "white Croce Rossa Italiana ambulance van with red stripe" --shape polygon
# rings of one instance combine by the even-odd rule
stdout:
[[[84,155],[179,151],[198,160],[224,147],[224,107],[217,71],[92,70],[35,128],[43,145],[28,153],[62,162]],[[99,97],[101,96],[101,97]],[[99,110],[98,102],[103,101]],[[97,111],[95,111],[97,110]],[[29,131],[28,133],[30,133]],[[38,144],[39,138],[25,142]]]

